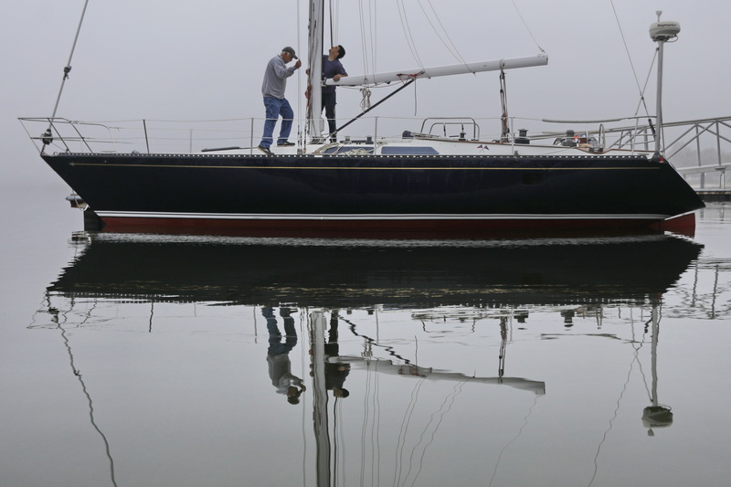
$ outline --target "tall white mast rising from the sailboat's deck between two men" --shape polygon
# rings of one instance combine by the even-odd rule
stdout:
[[[320,129],[321,113],[323,111],[323,93],[320,88],[323,83],[323,0],[310,0],[310,38],[309,38],[309,67],[307,86],[310,89],[310,104],[307,107],[307,127],[310,138],[322,138]]]

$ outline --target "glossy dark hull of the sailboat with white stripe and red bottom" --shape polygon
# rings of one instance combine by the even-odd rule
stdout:
[[[704,206],[670,164],[635,156],[43,157],[110,230],[444,237],[641,228]]]

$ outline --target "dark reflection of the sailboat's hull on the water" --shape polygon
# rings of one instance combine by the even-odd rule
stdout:
[[[152,302],[354,308],[644,302],[698,257],[665,235],[484,241],[86,234],[48,291]],[[263,242],[263,243],[262,243]]]

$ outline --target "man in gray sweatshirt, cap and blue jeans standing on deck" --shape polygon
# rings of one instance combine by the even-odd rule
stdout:
[[[297,59],[293,66],[287,67],[292,59]],[[267,110],[267,120],[264,121],[264,133],[261,137],[259,149],[265,154],[271,154],[270,146],[274,142],[272,136],[274,126],[281,117],[280,136],[277,145],[294,145],[287,139],[290,137],[291,123],[294,118],[294,111],[290,102],[284,98],[284,90],[287,88],[287,78],[300,69],[302,61],[297,58],[294,49],[287,47],[281,49],[281,54],[271,58],[267,69],[264,71],[264,81],[261,83],[261,94],[264,96],[264,107]]]

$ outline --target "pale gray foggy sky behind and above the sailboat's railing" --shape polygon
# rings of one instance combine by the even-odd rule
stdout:
[[[3,0],[0,123],[9,148],[3,156],[6,182],[63,185],[16,119],[53,111],[83,5],[83,0]],[[418,59],[395,0],[361,2],[371,17],[365,24],[358,2],[336,5],[334,43],[346,48],[343,63],[350,74],[372,71],[374,64],[377,71],[412,69],[418,59],[427,67],[459,63],[440,40],[449,43],[443,26],[466,62],[532,56],[543,48],[546,67],[506,72],[510,115],[581,120],[634,115],[649,75],[646,104],[654,114],[655,44],[648,28],[655,11],[662,10],[663,20],[682,27],[678,41],[665,47],[665,121],[731,115],[728,3],[614,0],[618,26],[609,0],[403,0]],[[85,121],[263,117],[264,66],[284,46],[306,58],[306,35],[303,0],[90,0],[57,116]],[[301,71],[287,87],[300,115]],[[498,90],[494,72],[420,80],[416,89],[409,87],[373,114],[497,118]],[[390,92],[373,91],[372,101]],[[338,119],[357,114],[360,101],[358,90],[339,89]]]

